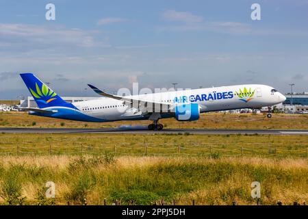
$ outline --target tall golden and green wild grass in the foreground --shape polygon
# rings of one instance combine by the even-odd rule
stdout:
[[[44,198],[47,181],[55,198]],[[308,201],[307,159],[242,157],[0,157],[0,203],[23,205],[255,205],[251,183],[261,183],[261,205]]]

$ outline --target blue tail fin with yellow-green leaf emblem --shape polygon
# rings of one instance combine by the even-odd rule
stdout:
[[[59,95],[51,90],[46,84],[32,73],[21,73],[21,78],[34,97],[39,108],[45,107],[73,107],[71,103],[64,101]]]

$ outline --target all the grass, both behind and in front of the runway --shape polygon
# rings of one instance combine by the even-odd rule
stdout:
[[[3,127],[118,127],[25,113],[1,113]],[[147,124],[149,122],[142,122]],[[307,129],[303,115],[205,114],[168,127]],[[261,205],[308,201],[308,136],[0,133],[0,204],[10,205]],[[47,181],[55,198],[46,198]]]

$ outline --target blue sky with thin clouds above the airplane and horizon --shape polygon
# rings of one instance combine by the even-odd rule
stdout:
[[[47,3],[55,21],[47,21]],[[251,19],[259,3],[261,20]],[[262,83],[308,91],[308,0],[0,0],[0,99],[35,73],[62,96]]]

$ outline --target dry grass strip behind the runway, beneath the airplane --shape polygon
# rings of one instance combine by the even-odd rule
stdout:
[[[159,120],[166,128],[191,129],[308,129],[308,115],[273,114],[201,114],[192,122],[179,122],[173,118]],[[25,112],[0,112],[0,127],[119,127],[120,125],[149,125],[151,121],[119,121],[113,123],[84,123],[55,118],[30,116]]]

